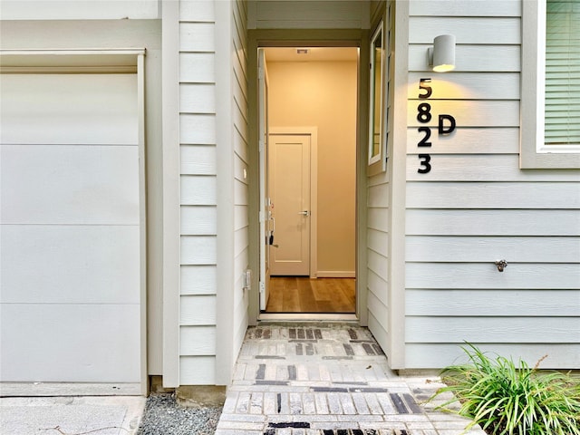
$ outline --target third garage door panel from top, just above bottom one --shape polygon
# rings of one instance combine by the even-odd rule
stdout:
[[[138,304],[138,226],[3,225],[2,303]]]

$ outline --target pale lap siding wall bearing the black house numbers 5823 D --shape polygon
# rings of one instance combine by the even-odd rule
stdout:
[[[456,361],[468,341],[543,367],[580,359],[578,172],[521,170],[519,1],[411,1],[405,341],[408,368]],[[457,69],[428,72],[427,47],[457,37]],[[419,80],[433,92],[419,99]],[[433,115],[417,121],[418,105]],[[457,129],[439,135],[439,114]],[[431,147],[419,148],[431,129]],[[431,170],[420,174],[418,154]],[[507,260],[504,272],[495,261]]]

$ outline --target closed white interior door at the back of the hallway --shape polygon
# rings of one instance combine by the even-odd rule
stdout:
[[[270,134],[271,275],[310,275],[310,135]]]

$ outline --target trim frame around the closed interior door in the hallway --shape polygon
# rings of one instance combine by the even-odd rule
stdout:
[[[269,135],[310,136],[310,264],[311,278],[316,278],[318,269],[317,223],[318,223],[318,127],[270,127]]]

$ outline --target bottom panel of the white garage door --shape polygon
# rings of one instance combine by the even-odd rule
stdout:
[[[0,380],[140,382],[139,304],[1,306]]]

